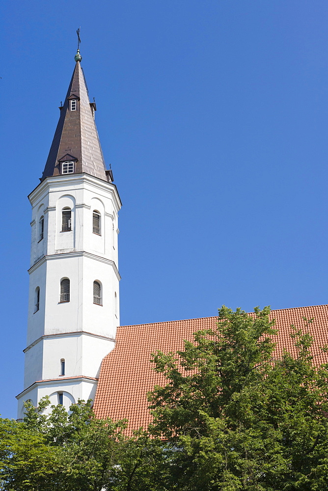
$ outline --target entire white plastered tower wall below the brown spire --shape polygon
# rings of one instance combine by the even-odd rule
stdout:
[[[29,196],[32,205],[31,262],[25,382],[19,400],[36,406],[42,395],[68,407],[93,398],[101,361],[114,347],[119,325],[116,187],[88,174],[53,176]],[[62,211],[71,209],[71,230],[62,231]],[[100,215],[100,235],[92,216]],[[44,219],[40,238],[40,219]],[[70,280],[70,301],[60,301],[60,281]],[[93,282],[101,305],[93,302]],[[39,309],[36,291],[40,289]],[[61,360],[65,374],[61,375]]]

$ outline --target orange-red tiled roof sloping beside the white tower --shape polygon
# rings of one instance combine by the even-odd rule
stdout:
[[[320,347],[328,344],[328,305],[273,310],[271,318],[276,320],[278,329],[274,336],[276,354],[281,354],[284,348],[295,353],[290,326],[304,327],[303,317],[314,319],[308,330],[313,336],[315,364],[327,363],[328,354]],[[155,384],[165,384],[163,375],[152,370],[151,354],[157,350],[164,353],[183,350],[184,339],[192,341],[195,331],[214,328],[216,321],[217,317],[204,317],[118,327],[116,346],[101,365],[93,406],[96,416],[113,420],[127,418],[129,432],[140,426],[146,429],[151,421],[147,392]]]

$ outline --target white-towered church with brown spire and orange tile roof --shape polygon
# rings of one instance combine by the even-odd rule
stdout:
[[[40,183],[29,194],[32,206],[31,256],[24,402],[40,398],[66,409],[92,399],[97,417],[127,418],[129,431],[151,421],[147,392],[163,384],[152,370],[151,354],[183,349],[199,329],[213,328],[216,317],[120,326],[118,213],[121,200],[107,170],[89,101],[75,56],[73,76]],[[293,354],[291,325],[313,319],[312,355],[328,362],[328,305],[273,310],[276,353]]]

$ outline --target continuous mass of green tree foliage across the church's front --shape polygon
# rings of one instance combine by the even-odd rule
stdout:
[[[328,491],[328,366],[313,363],[306,320],[296,356],[277,356],[269,313],[223,306],[216,329],[154,354],[167,383],[149,394],[149,433],[127,437],[90,401],[0,419],[0,489]]]

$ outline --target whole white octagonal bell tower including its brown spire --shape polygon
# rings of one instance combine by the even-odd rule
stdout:
[[[117,216],[78,50],[32,206],[24,401],[68,408],[94,399],[100,364],[119,326]]]

